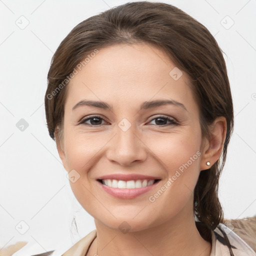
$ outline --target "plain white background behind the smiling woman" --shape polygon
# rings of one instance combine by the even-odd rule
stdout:
[[[125,2],[0,1],[0,248],[24,240],[33,244],[31,254],[41,253],[69,247],[94,229],[93,218],[72,195],[48,135],[43,104],[46,75],[53,52],[77,23]],[[235,124],[219,196],[224,217],[252,216],[256,213],[256,1],[161,2],[205,25],[225,52]],[[24,29],[16,24],[21,15],[23,24],[25,19],[29,22]],[[227,15],[234,22],[229,29],[224,27],[232,22]],[[28,123],[24,131],[16,127],[21,118]],[[79,235],[70,232],[73,216]],[[20,221],[29,226],[23,235],[17,230],[24,231],[26,224]]]

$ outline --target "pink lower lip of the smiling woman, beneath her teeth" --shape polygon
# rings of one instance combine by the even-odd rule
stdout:
[[[131,199],[134,198],[140,194],[146,193],[150,189],[154,188],[160,180],[155,182],[152,185],[149,186],[143,186],[140,188],[115,188],[115,187],[110,187],[107,185],[103,185],[101,182],[97,180],[99,185],[109,194],[117,197],[117,198],[122,198],[122,199]]]

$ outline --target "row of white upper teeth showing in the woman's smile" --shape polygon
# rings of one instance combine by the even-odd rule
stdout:
[[[153,179],[143,180],[116,180],[116,179],[102,179],[102,183],[110,187],[118,188],[140,188],[144,186],[150,186],[154,183]]]

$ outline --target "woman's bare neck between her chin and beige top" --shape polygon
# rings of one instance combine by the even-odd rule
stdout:
[[[181,214],[182,215],[182,214]],[[193,215],[177,216],[171,221],[141,231],[122,233],[95,220],[97,237],[87,255],[99,256],[209,256],[211,243],[196,228]]]

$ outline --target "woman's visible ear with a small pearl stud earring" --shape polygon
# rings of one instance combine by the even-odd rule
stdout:
[[[226,119],[224,116],[217,117],[209,127],[210,141],[204,139],[204,147],[200,163],[200,170],[209,169],[220,157],[226,136]],[[210,162],[207,165],[206,162]]]

